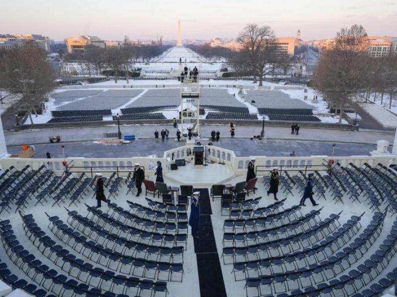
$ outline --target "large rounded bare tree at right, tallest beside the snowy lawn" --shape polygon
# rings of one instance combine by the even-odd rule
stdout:
[[[315,88],[340,113],[347,103],[362,94],[367,87],[371,67],[367,48],[367,33],[362,26],[342,28],[337,33],[333,48],[323,53],[315,68]],[[341,121],[340,114],[339,123]]]

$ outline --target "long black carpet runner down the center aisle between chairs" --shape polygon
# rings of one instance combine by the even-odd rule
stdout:
[[[215,236],[211,222],[211,202],[208,189],[194,189],[200,192],[199,238],[195,238],[195,253],[199,271],[201,297],[227,297]]]

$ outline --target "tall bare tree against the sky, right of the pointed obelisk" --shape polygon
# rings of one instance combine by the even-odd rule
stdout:
[[[240,32],[237,42],[249,53],[251,68],[259,75],[259,85],[262,86],[264,75],[271,71],[271,67],[266,66],[274,61],[276,56],[273,31],[269,26],[248,24]]]

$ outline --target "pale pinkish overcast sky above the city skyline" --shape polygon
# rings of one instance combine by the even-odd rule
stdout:
[[[369,35],[397,36],[397,0],[0,0],[0,33],[57,41],[88,34],[106,40],[236,37],[247,23],[276,36],[324,39],[361,24]]]

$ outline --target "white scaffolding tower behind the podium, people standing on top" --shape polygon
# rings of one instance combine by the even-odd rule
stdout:
[[[199,76],[181,76],[181,134],[186,139],[189,130],[200,137],[200,85]]]

